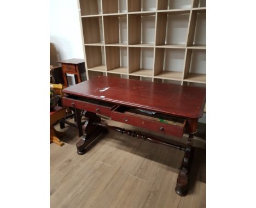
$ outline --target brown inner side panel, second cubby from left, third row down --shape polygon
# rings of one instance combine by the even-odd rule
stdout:
[[[120,67],[120,48],[106,46],[107,71]]]

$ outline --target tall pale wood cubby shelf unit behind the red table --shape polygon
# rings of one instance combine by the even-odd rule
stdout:
[[[86,76],[206,86],[206,0],[80,0]]]

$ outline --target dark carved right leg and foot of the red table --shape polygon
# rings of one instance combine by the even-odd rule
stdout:
[[[175,191],[178,195],[184,196],[188,192],[188,177],[193,154],[193,134],[189,134],[187,149],[185,150],[182,167],[178,175]]]

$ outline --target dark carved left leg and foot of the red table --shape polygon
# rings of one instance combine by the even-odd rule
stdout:
[[[82,139],[77,142],[78,155],[85,154],[86,148],[91,145],[100,134],[108,132],[107,128],[95,125],[101,123],[101,118],[98,117],[96,113],[86,112],[85,117],[87,117],[88,120],[86,120],[83,126],[84,135]]]

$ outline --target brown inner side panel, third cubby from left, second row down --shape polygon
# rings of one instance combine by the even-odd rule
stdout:
[[[141,44],[141,16],[128,15],[128,44]]]

